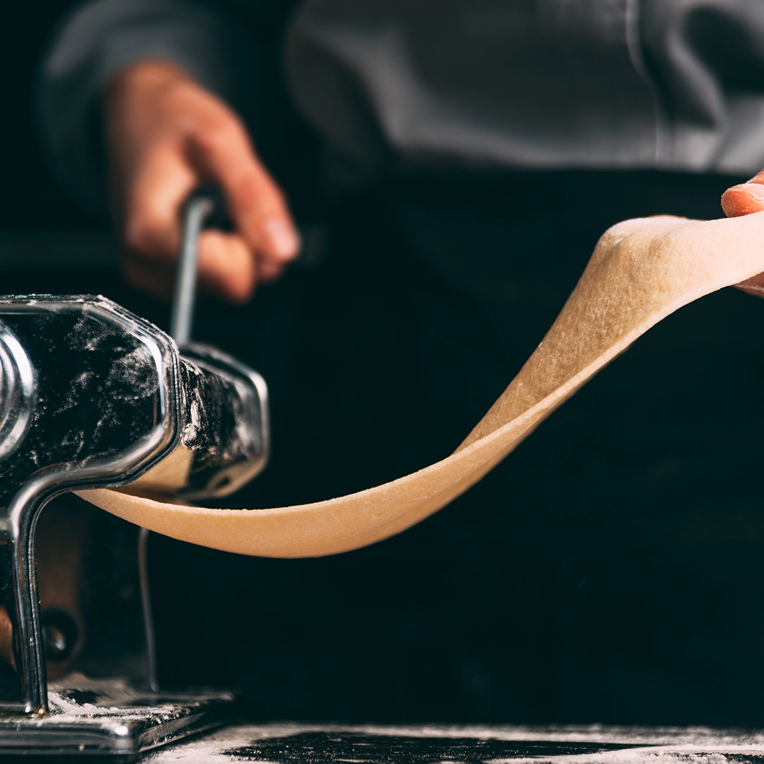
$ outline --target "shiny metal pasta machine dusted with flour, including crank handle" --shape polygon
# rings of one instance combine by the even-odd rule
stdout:
[[[66,649],[67,622],[40,620],[34,553],[40,510],[60,494],[219,497],[264,467],[264,380],[189,342],[196,243],[210,212],[205,194],[186,204],[175,339],[103,297],[0,298],[0,753],[134,756],[221,724],[235,700],[158,690],[146,531],[143,681],[80,673],[49,682],[45,655]]]

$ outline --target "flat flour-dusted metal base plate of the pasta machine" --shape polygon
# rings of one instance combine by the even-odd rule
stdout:
[[[0,755],[97,755],[129,760],[231,720],[228,691],[152,692],[72,674],[48,686],[47,717],[0,717]]]

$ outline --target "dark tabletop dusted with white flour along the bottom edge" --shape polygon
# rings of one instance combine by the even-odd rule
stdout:
[[[760,731],[708,727],[380,727],[237,724],[148,753],[143,762],[264,764],[761,764]]]

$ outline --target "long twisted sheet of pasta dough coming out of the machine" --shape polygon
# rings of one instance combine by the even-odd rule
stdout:
[[[665,316],[762,271],[764,212],[628,220],[605,232],[520,374],[456,452],[435,465],[358,494],[257,511],[186,507],[112,490],[80,495],[131,523],[228,552],[306,557],[358,549],[419,523],[467,490]]]

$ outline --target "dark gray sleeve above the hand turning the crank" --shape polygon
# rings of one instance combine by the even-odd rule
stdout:
[[[79,8],[44,58],[37,86],[40,137],[66,189],[107,212],[99,94],[118,70],[140,59],[167,60],[231,99],[241,44],[222,18],[183,0],[97,0]]]

